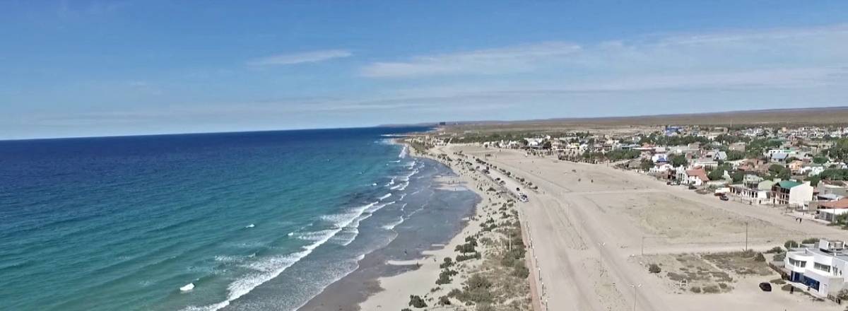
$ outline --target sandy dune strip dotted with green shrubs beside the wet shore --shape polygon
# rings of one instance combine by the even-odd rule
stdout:
[[[410,293],[409,308],[404,309],[530,310],[530,269],[527,268],[527,246],[523,241],[516,201],[504,197],[504,192],[497,190],[500,188],[497,181],[483,175],[479,169],[480,164],[484,164],[481,160],[475,163],[457,153],[450,157],[432,151],[429,154],[477,181],[475,188],[484,202],[471,217],[468,226],[471,229],[465,230],[467,235],[452,242],[449,248],[452,254],[433,263],[438,264],[434,287],[426,293]],[[478,168],[474,168],[475,165]],[[469,167],[471,169],[467,169]],[[521,177],[511,178],[533,189]]]

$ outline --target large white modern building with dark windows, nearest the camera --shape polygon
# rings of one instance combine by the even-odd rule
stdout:
[[[848,254],[844,251],[845,242],[824,239],[792,248],[784,258],[784,272],[790,282],[808,288],[813,295],[835,296],[848,277]]]

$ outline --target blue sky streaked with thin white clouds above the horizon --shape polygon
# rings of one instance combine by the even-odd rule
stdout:
[[[0,2],[0,139],[846,99],[846,1]]]

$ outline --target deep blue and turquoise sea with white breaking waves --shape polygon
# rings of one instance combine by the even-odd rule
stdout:
[[[0,309],[296,309],[427,205],[424,130],[0,142]]]

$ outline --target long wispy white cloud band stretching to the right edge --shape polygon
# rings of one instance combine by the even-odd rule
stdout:
[[[848,25],[707,34],[643,36],[577,45],[543,42],[377,62],[361,69],[372,78],[544,74],[549,80],[583,83],[607,78],[665,75],[732,76],[769,70],[819,70],[848,65]],[[743,78],[746,82],[752,75]],[[761,75],[764,80],[774,80]],[[533,75],[529,77],[533,79]],[[691,85],[688,81],[680,81]],[[757,84],[757,81],[752,81]],[[667,83],[672,85],[674,83]]]

